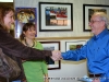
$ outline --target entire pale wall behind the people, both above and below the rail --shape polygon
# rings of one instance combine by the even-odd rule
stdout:
[[[37,8],[38,2],[59,2],[59,0],[14,0],[15,8]],[[83,32],[83,4],[109,4],[108,0],[60,0],[60,2],[73,3],[73,31],[72,32],[38,32],[38,37],[80,37],[92,36],[89,32]],[[37,11],[38,12],[38,11]],[[38,13],[37,13],[38,14]],[[37,15],[38,16],[38,15]],[[38,21],[38,19],[37,19]],[[39,21],[38,21],[39,23]],[[38,24],[37,23],[37,24]],[[37,28],[39,26],[37,25]],[[61,39],[61,50],[64,51],[64,42],[71,39]],[[72,39],[73,40],[73,39]],[[72,42],[71,40],[71,42]],[[77,82],[77,80],[66,80],[66,78],[82,78],[87,74],[86,60],[82,61],[61,61],[61,69],[49,70],[49,77],[56,78],[50,82]],[[57,80],[65,78],[65,80]]]

